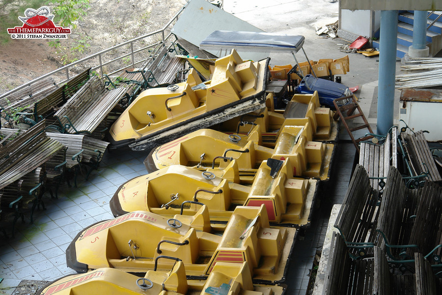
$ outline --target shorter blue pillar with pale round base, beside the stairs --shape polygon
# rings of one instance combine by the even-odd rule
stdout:
[[[413,45],[408,48],[411,58],[427,58],[429,48],[427,45],[427,15],[426,10],[414,10]]]

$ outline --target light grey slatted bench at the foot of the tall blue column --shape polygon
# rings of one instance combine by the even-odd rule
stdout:
[[[371,178],[371,186],[382,189],[390,166],[397,167],[397,127],[391,128],[382,144],[360,142],[359,165],[362,165]],[[381,184],[381,185],[380,185]]]

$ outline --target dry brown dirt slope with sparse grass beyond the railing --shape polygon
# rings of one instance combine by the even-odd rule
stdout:
[[[134,37],[161,29],[183,7],[185,0],[90,0],[90,8],[69,38],[88,38],[90,45],[78,58]],[[37,9],[38,7],[31,7]],[[54,19],[55,23],[57,19]],[[17,25],[21,23],[17,20]],[[63,64],[49,39],[11,39],[0,46],[0,93],[53,71]],[[86,67],[87,65],[84,65]],[[81,71],[77,69],[77,71]]]

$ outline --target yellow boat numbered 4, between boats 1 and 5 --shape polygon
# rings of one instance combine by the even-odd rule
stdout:
[[[290,158],[263,161],[251,187],[235,181],[239,181],[236,160],[223,171],[201,172],[172,165],[122,184],[111,198],[110,207],[114,216],[146,210],[173,217],[194,215],[200,206],[189,203],[194,201],[206,205],[210,220],[222,228],[235,207],[265,204],[272,222],[309,224],[318,180],[293,177]]]

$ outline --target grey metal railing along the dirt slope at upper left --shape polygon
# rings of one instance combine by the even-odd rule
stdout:
[[[123,43],[120,43],[118,45],[112,46],[110,48],[107,48],[105,50],[97,52],[97,53],[95,53],[93,55],[90,55],[88,57],[85,57],[83,59],[79,59],[79,60],[74,61],[74,62],[72,62],[70,64],[62,66],[62,67],[60,67],[60,68],[58,68],[58,69],[56,69],[56,70],[54,70],[54,71],[52,71],[50,73],[47,73],[47,74],[45,74],[43,76],[40,76],[40,77],[38,77],[38,78],[36,78],[36,79],[34,79],[32,81],[29,81],[29,82],[27,82],[27,83],[25,83],[25,84],[15,88],[15,89],[9,90],[9,91],[1,94],[0,98],[8,96],[10,93],[12,93],[14,91],[17,91],[19,89],[25,88],[25,87],[27,87],[27,86],[29,86],[31,84],[34,84],[34,83],[36,83],[36,82],[38,82],[38,81],[40,81],[40,80],[42,80],[42,79],[44,79],[46,77],[54,76],[55,74],[58,74],[60,72],[65,72],[66,79],[64,79],[64,80],[62,80],[60,82],[57,82],[58,85],[62,85],[63,83],[65,83],[65,82],[70,80],[70,77],[69,77],[69,70],[70,69],[72,69],[74,66],[80,65],[82,63],[85,63],[85,62],[90,61],[91,59],[95,59],[95,58],[98,58],[98,64],[92,66],[91,71],[99,69],[100,70],[100,76],[102,78],[103,78],[104,74],[113,75],[113,74],[115,74],[115,73],[117,73],[117,72],[119,72],[119,71],[121,71],[121,70],[123,70],[125,68],[128,68],[130,65],[125,65],[125,66],[123,66],[121,68],[113,70],[110,73],[104,73],[104,69],[103,69],[104,66],[110,65],[111,63],[115,63],[115,62],[119,61],[120,59],[124,59],[126,57],[131,57],[132,67],[135,67],[135,65],[142,63],[142,65],[141,65],[142,68],[141,69],[144,70],[145,68],[148,68],[150,64],[152,64],[153,60],[158,57],[159,53],[166,46],[167,46],[167,48],[166,48],[167,50],[169,50],[169,49],[171,49],[172,47],[175,46],[176,37],[170,32],[171,27],[172,27],[171,25],[172,25],[172,23],[174,21],[176,21],[178,19],[179,15],[184,11],[184,9],[186,8],[187,5],[188,4],[186,3],[175,14],[175,16],[173,16],[172,19],[169,20],[169,22],[162,29],[159,29],[159,30],[153,31],[151,33],[139,36],[137,38],[128,40],[126,42],[123,42]],[[135,42],[142,41],[142,40],[144,40],[146,38],[153,37],[153,36],[154,37],[155,36],[159,36],[157,38],[157,39],[159,39],[159,41],[154,42],[153,44],[144,46],[142,48],[134,49],[134,43]],[[173,41],[171,41],[172,39],[173,39]],[[111,51],[114,51],[114,50],[117,50],[117,49],[122,49],[122,47],[124,47],[124,46],[129,46],[130,47],[130,52],[129,53],[120,55],[117,58],[111,59],[111,60],[106,61],[106,62],[103,61],[104,55],[110,53]],[[148,52],[148,57],[147,58],[136,60],[136,54],[137,53],[146,52],[146,51]]]

